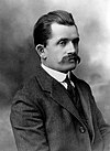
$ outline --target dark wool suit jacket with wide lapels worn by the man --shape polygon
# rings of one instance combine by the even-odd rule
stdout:
[[[18,151],[109,151],[110,127],[89,85],[73,74],[72,80],[87,125],[64,86],[38,67],[13,99],[10,119]]]

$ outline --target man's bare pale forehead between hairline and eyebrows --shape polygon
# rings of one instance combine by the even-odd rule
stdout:
[[[75,25],[52,24],[52,39],[76,39],[79,37],[78,30]]]

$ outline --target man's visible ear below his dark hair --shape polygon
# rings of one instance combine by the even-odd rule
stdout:
[[[46,53],[45,53],[44,45],[37,44],[35,50],[36,50],[36,52],[37,52],[37,54],[40,55],[41,58],[43,58],[43,60],[46,58]]]

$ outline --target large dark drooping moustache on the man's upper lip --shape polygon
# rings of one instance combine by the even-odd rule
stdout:
[[[76,53],[70,53],[63,57],[63,61],[70,61],[70,60],[74,60],[78,64],[80,63],[80,57]]]

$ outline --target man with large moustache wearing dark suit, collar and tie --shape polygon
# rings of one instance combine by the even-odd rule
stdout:
[[[33,35],[41,66],[11,109],[18,151],[109,151],[110,127],[89,85],[72,73],[80,62],[73,15],[50,12],[35,23]]]

